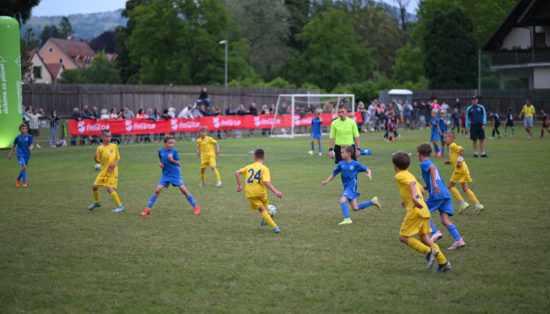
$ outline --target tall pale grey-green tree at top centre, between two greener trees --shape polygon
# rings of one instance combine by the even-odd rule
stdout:
[[[246,60],[264,80],[271,80],[292,56],[287,8],[280,0],[227,0],[235,23],[250,47]]]

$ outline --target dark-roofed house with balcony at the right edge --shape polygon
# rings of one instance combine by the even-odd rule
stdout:
[[[550,1],[518,0],[483,51],[500,88],[509,77],[520,79],[524,88],[550,88]]]

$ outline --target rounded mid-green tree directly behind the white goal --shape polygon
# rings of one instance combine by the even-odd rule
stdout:
[[[373,67],[370,50],[341,10],[331,9],[313,18],[297,39],[305,47],[295,53],[291,64],[297,85],[312,83],[332,90],[338,83],[365,79]]]

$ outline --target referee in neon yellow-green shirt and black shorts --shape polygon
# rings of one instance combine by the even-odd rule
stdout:
[[[353,160],[357,160],[361,151],[357,123],[353,119],[348,118],[348,109],[345,105],[338,106],[338,115],[339,118],[332,121],[330,125],[328,149],[329,157],[334,158],[334,163],[336,164],[342,160],[342,146],[351,145],[353,147],[353,153],[351,154]]]

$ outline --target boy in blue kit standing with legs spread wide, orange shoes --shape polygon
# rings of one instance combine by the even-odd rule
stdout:
[[[175,140],[172,135],[164,136],[164,148],[159,149],[159,166],[162,168],[162,177],[160,178],[159,184],[151,195],[149,203],[147,203],[147,208],[141,212],[142,216],[147,216],[151,213],[151,208],[155,204],[160,191],[165,187],[169,187],[170,184],[177,186],[180,191],[187,197],[187,200],[193,206],[195,215],[198,215],[201,210],[199,205],[193,199],[193,195],[187,191],[185,185],[183,185],[183,180],[181,179],[181,168],[180,168],[180,158],[178,151],[174,148]]]

